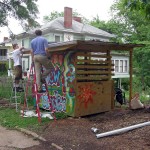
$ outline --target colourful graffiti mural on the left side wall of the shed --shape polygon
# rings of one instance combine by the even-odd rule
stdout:
[[[46,78],[50,98],[52,101],[53,109],[55,111],[74,111],[74,80],[75,80],[75,67],[73,65],[73,58],[70,53],[54,54],[52,57],[54,69]],[[41,97],[42,107],[49,108],[46,96]]]

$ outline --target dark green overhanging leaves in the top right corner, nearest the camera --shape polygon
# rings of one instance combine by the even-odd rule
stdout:
[[[130,11],[138,10],[148,20],[150,20],[150,1],[149,0],[125,0],[124,6]]]

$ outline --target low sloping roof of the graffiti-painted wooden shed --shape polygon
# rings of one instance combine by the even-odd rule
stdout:
[[[144,44],[119,44],[115,42],[102,41],[68,41],[49,44],[49,52],[61,51],[88,51],[103,52],[107,50],[133,50],[135,47],[142,47]]]

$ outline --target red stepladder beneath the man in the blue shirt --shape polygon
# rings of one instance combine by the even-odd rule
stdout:
[[[55,117],[55,111],[53,109],[52,106],[52,101],[51,101],[51,97],[48,91],[48,86],[47,83],[42,83],[42,89],[44,89],[44,93],[38,93],[38,87],[37,87],[37,83],[36,83],[36,74],[35,74],[35,67],[34,67],[34,63],[31,64],[29,73],[27,74],[27,83],[26,83],[26,89],[25,89],[25,98],[24,98],[24,109],[23,109],[23,115],[24,115],[24,111],[25,109],[29,110],[29,106],[28,106],[28,95],[29,95],[29,87],[31,87],[32,89],[32,97],[35,98],[35,107],[36,107],[36,113],[37,113],[37,117],[38,117],[38,121],[41,122],[41,116],[42,113],[40,112],[40,98],[41,96],[47,96],[47,103],[49,105],[49,108],[46,110],[49,110],[52,115],[54,120],[56,120]]]

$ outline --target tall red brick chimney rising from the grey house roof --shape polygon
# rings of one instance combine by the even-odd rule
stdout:
[[[72,8],[64,8],[64,27],[72,28]]]

